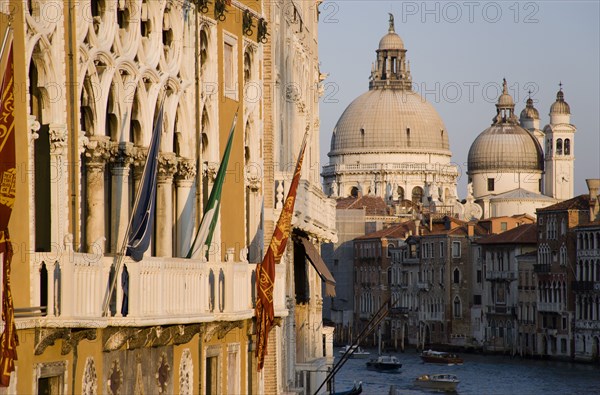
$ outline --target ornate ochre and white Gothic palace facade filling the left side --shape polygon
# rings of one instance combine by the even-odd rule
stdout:
[[[3,3],[0,28],[10,11],[23,88],[9,224],[20,344],[8,393],[313,393],[320,384],[332,362],[320,310],[326,269],[305,255],[335,241],[335,203],[310,171],[319,152],[317,10],[285,3]],[[304,85],[288,101],[281,90],[267,96],[263,81]],[[236,113],[212,242],[187,258]],[[276,268],[279,326],[259,374],[255,265],[307,124],[293,226],[310,246],[290,242]],[[154,230],[140,261],[121,261],[153,130]]]

